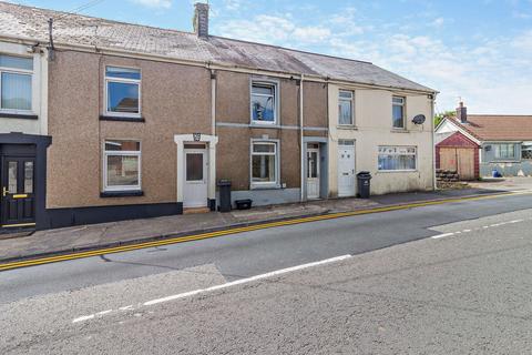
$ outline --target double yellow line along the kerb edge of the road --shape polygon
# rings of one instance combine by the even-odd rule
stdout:
[[[12,263],[7,263],[7,264],[0,264],[0,271],[14,270],[14,268],[20,268],[20,267],[29,267],[29,266],[35,266],[35,265],[42,265],[42,264],[50,264],[50,263],[58,263],[58,262],[64,262],[64,261],[69,261],[69,260],[84,258],[84,257],[99,256],[99,255],[105,255],[105,254],[131,252],[131,251],[136,251],[136,250],[140,250],[140,248],[146,248],[146,247],[155,247],[155,246],[185,243],[185,242],[192,242],[192,241],[201,241],[201,240],[207,240],[207,239],[228,235],[228,234],[238,234],[238,233],[244,233],[244,232],[266,230],[266,229],[272,229],[272,227],[276,227],[276,226],[295,225],[295,224],[301,224],[301,223],[335,220],[335,219],[341,219],[341,217],[348,217],[348,216],[355,216],[355,215],[362,215],[362,214],[372,214],[372,213],[408,210],[408,209],[415,209],[415,207],[423,207],[423,206],[438,205],[438,204],[444,204],[444,203],[463,202],[463,201],[478,201],[478,200],[498,199],[498,197],[504,197],[504,196],[510,196],[510,195],[530,194],[530,193],[531,192],[500,193],[500,194],[491,194],[491,195],[485,195],[485,196],[433,200],[433,201],[416,202],[416,203],[393,205],[393,206],[375,207],[375,209],[369,209],[369,210],[359,210],[359,211],[351,211],[351,212],[339,212],[339,213],[331,213],[331,214],[323,214],[323,215],[316,215],[316,216],[303,217],[303,219],[297,219],[296,217],[294,220],[285,220],[285,221],[279,221],[279,222],[268,222],[268,223],[262,223],[262,224],[243,226],[243,227],[233,227],[233,229],[217,231],[217,232],[202,233],[202,234],[187,235],[187,236],[178,236],[178,237],[165,239],[165,240],[154,241],[154,242],[143,242],[143,243],[137,243],[137,244],[123,245],[123,246],[116,246],[116,247],[108,247],[108,248],[101,248],[101,250],[94,250],[94,251],[88,251],[88,252],[79,252],[79,253],[71,253],[71,254],[57,255],[57,256],[50,256],[50,257],[12,262]]]

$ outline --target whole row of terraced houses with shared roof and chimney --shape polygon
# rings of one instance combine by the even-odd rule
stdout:
[[[52,20],[52,21],[51,21]],[[433,187],[436,92],[371,63],[0,2],[1,225]]]

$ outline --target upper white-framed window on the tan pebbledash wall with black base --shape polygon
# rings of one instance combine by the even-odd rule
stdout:
[[[106,115],[141,116],[141,70],[105,67]]]

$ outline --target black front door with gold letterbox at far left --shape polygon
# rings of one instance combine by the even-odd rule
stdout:
[[[34,224],[34,158],[2,158],[0,222],[3,227]]]

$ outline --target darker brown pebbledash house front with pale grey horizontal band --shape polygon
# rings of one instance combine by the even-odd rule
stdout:
[[[250,118],[250,83],[266,81],[278,88],[276,124],[257,124]],[[300,201],[299,82],[245,73],[219,71],[216,74],[217,179],[232,181],[232,199],[252,199],[254,205]],[[305,82],[305,142],[327,138],[327,89],[323,83]],[[278,185],[254,187],[250,182],[252,141],[277,142]],[[326,144],[324,144],[325,149]],[[304,146],[305,149],[305,146]]]

